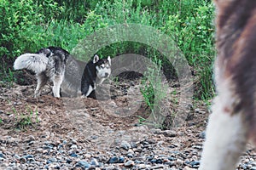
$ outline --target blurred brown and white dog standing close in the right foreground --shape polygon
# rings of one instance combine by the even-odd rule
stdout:
[[[256,143],[256,1],[216,0],[218,96],[200,170],[233,170],[248,140]]]

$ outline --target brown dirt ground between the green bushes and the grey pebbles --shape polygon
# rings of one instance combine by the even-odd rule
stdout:
[[[172,88],[178,87],[172,86],[173,82],[168,82],[166,93],[170,95],[162,104],[166,113],[160,116],[160,122],[154,122],[154,116],[143,100],[141,78],[126,78],[112,83],[110,98],[104,100],[54,98],[49,84],[35,99],[35,80],[25,82],[26,85],[14,83],[11,88],[2,83],[0,88],[0,142],[20,139],[13,148],[16,153],[24,151],[20,150],[20,145],[30,136],[38,140],[74,138],[93,150],[109,150],[124,139],[138,141],[145,138],[166,144],[168,150],[160,150],[160,154],[168,155],[173,148],[185,151],[199,147],[201,150],[208,106],[201,101],[188,104],[186,111],[183,110],[183,123],[173,127],[172,113],[177,112],[180,102],[177,100],[179,88]],[[158,127],[171,131],[162,131]],[[172,144],[174,147],[170,147]],[[249,149],[253,150],[252,147]],[[254,157],[255,154],[252,152],[245,156]]]

